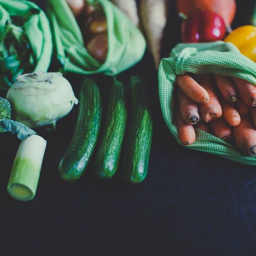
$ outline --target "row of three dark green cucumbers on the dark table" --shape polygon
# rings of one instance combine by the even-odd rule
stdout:
[[[142,182],[148,169],[152,140],[152,118],[144,85],[133,76],[129,86],[130,107],[126,108],[123,83],[110,87],[108,110],[101,125],[101,96],[94,80],[85,78],[79,94],[79,112],[73,138],[59,163],[63,180],[77,181],[94,155],[94,173],[112,178],[121,160],[121,170],[132,183]],[[129,125],[126,127],[126,117]],[[122,146],[124,144],[124,146]],[[123,152],[123,159],[121,158]]]

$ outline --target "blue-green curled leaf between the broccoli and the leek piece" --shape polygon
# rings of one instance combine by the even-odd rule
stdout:
[[[21,140],[24,140],[33,134],[37,134],[28,126],[7,118],[0,119],[0,127],[5,132],[11,132],[12,134],[16,134],[17,137]]]

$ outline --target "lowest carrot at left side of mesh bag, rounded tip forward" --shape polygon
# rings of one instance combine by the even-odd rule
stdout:
[[[196,141],[193,125],[185,122],[181,116],[179,105],[175,105],[175,120],[178,127],[179,140],[183,145],[191,145]]]

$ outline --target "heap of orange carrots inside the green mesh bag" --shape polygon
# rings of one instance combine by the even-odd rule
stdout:
[[[193,77],[194,78],[193,78]],[[190,145],[195,127],[235,142],[247,156],[256,156],[256,87],[240,78],[220,75],[179,75],[175,119],[179,139]]]

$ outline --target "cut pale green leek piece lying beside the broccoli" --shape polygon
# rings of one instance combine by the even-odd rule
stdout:
[[[31,135],[22,140],[7,186],[13,198],[20,201],[34,198],[45,150],[46,140],[38,135]]]

